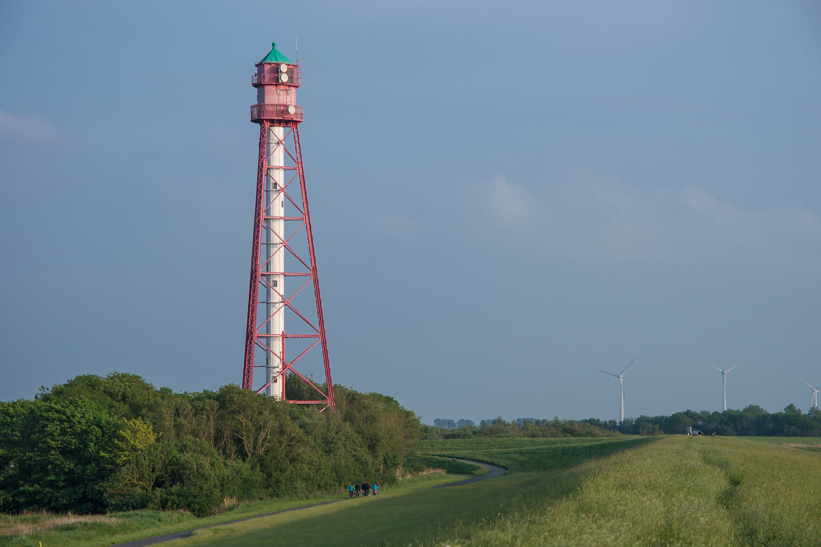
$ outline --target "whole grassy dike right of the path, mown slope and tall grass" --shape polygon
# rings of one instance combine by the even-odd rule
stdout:
[[[575,467],[263,517],[167,547],[821,545],[819,483],[821,454],[671,435]]]

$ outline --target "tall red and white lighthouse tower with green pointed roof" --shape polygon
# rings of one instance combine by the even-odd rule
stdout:
[[[262,385],[257,393],[265,391],[286,399],[285,375],[290,372],[307,381],[296,365],[319,344],[312,353],[322,350],[328,393],[314,387],[314,399],[291,403],[323,404],[324,410],[336,408],[336,404],[300,149],[302,107],[296,105],[296,89],[301,83],[301,66],[278,52],[276,43],[271,45],[271,52],[256,64],[256,73],[251,76],[257,90],[251,121],[259,124],[259,162],[242,387],[254,389],[254,369],[264,368],[264,381],[257,382]],[[313,299],[305,298],[310,285]],[[307,307],[306,301],[310,301]],[[290,361],[287,340],[289,349],[296,348],[296,357]]]

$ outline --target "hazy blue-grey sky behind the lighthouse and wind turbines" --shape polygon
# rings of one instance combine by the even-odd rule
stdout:
[[[250,74],[299,39],[334,381],[432,423],[806,409],[817,2],[3,2],[0,398],[241,380]],[[320,373],[306,362],[305,372]]]

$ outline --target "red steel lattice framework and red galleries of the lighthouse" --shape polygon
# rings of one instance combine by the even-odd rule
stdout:
[[[273,52],[275,52],[275,48]],[[269,363],[267,365],[256,365],[255,352],[258,350],[270,352],[270,347],[265,343],[265,339],[277,338],[277,340],[282,340],[282,353],[268,354],[272,354],[273,357],[276,358],[277,368],[279,368],[279,370],[277,371],[277,374],[268,381],[268,383],[257,390],[257,393],[261,393],[268,387],[268,385],[271,385],[277,380],[284,382],[287,372],[291,372],[298,376],[302,381],[305,381],[308,385],[313,387],[313,389],[317,392],[318,397],[314,400],[288,399],[290,403],[323,404],[324,406],[322,410],[325,410],[325,408],[328,407],[335,409],[336,403],[333,399],[333,381],[331,379],[331,367],[328,359],[328,340],[325,335],[322,298],[319,293],[319,277],[317,276],[316,254],[314,252],[314,233],[311,229],[310,207],[308,206],[308,194],[305,189],[305,171],[302,165],[302,150],[300,146],[299,133],[299,125],[302,121],[302,108],[296,107],[296,105],[289,107],[287,104],[268,104],[273,100],[283,101],[287,89],[296,91],[296,87],[299,86],[300,80],[291,78],[291,81],[288,84],[283,85],[281,80],[277,80],[276,76],[280,71],[283,73],[287,71],[287,74],[299,75],[300,65],[299,62],[292,64],[288,62],[286,65],[278,62],[267,63],[263,61],[257,64],[257,68],[258,74],[255,75],[252,80],[252,84],[258,88],[259,86],[264,86],[265,89],[258,89],[258,101],[260,98],[265,98],[265,101],[264,103],[261,102],[251,107],[251,121],[259,124],[259,158],[257,165],[254,244],[251,253],[250,283],[248,290],[248,317],[245,330],[245,362],[242,373],[242,387],[248,390],[253,389],[254,369],[269,366]],[[274,91],[276,93],[273,93]],[[279,97],[281,94],[280,91],[282,91],[282,98]],[[288,96],[291,96],[290,91],[288,91]],[[276,133],[271,130],[273,126],[282,127],[282,139],[279,139],[276,136]],[[269,137],[279,140],[277,144],[282,148],[282,152],[284,153],[283,157],[290,160],[293,164],[292,166],[277,166],[270,164],[271,156],[269,155],[268,147]],[[287,140],[289,138],[291,139],[292,146],[287,145]],[[272,172],[271,170],[277,170],[277,172],[281,171],[282,173],[292,173],[292,175],[290,177],[285,176],[278,187],[277,185],[273,185],[277,191],[275,192],[274,197],[269,200],[270,203],[266,206],[265,192],[271,191],[270,188],[266,188],[266,180],[273,179],[273,177],[270,176]],[[297,183],[300,191],[300,197],[297,199],[294,199],[291,196],[291,193],[289,193],[289,188],[291,188],[291,185],[294,183]],[[297,216],[284,217],[272,214],[271,205],[273,203],[277,203],[279,200],[282,200],[282,203],[286,203],[284,200],[287,200],[289,207],[296,209]],[[282,233],[278,233],[277,230],[274,229],[271,221],[287,221],[289,223],[296,222],[298,223],[298,226],[296,226],[296,229],[291,231],[290,235],[287,235],[285,230],[282,230]],[[285,222],[282,222],[281,224],[284,226]],[[293,224],[291,224],[291,226],[293,226]],[[309,256],[307,261],[301,257],[294,248],[294,238],[297,235],[302,235],[303,228],[305,229],[304,235],[308,244]],[[271,268],[269,265],[272,263],[273,255],[268,256],[268,258],[265,256],[266,253],[264,252],[264,245],[268,243],[263,242],[264,230],[271,230],[271,232],[275,235],[277,245],[274,253],[288,253],[290,257],[296,260],[296,264],[298,266],[297,270],[304,268],[304,271],[270,271]],[[293,260],[290,262],[293,262]],[[296,291],[294,291],[290,296],[286,296],[284,288],[277,287],[277,283],[275,281],[273,283],[271,282],[271,276],[296,278],[304,277],[307,279],[305,280],[305,283],[301,284],[301,286],[299,286],[299,288],[296,289]],[[296,304],[292,302],[294,297],[296,297],[297,294],[300,294],[308,285],[313,285],[314,287],[314,301],[316,303],[317,317],[316,325],[314,325],[314,322],[310,321],[309,318],[305,317],[305,314],[300,312],[300,310],[296,308]],[[270,291],[272,294],[277,295],[279,299],[277,301],[277,312],[282,310],[282,308],[287,308],[287,310],[293,312],[293,315],[298,317],[301,321],[300,325],[304,326],[306,330],[309,331],[309,334],[296,334],[295,332],[287,332],[284,330],[273,334],[266,333],[265,330],[270,330],[270,328],[265,328],[266,323],[272,320],[273,315],[269,315],[265,321],[258,324],[257,312],[259,305],[266,303],[265,301],[260,302],[259,300],[260,287],[264,289],[264,292]],[[280,292],[280,290],[282,290],[282,292]],[[299,321],[297,322],[299,323]],[[309,339],[308,341],[310,341],[310,339],[316,340],[314,340],[313,343],[311,343],[308,348],[302,351],[296,358],[291,361],[287,361],[285,358],[284,348],[285,341],[288,339]],[[328,386],[327,394],[323,393],[322,390],[319,390],[317,386],[305,378],[305,376],[300,374],[300,372],[298,372],[295,368],[296,362],[300,361],[300,359],[303,358],[311,349],[314,349],[317,344],[320,344],[322,349],[325,381]],[[284,393],[284,386],[282,387],[282,390]]]

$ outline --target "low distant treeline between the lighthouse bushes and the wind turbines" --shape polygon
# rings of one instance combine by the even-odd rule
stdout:
[[[443,422],[452,422],[447,420]],[[461,422],[461,420],[460,420]],[[434,420],[435,424],[436,421]],[[533,420],[520,418],[507,422],[502,417],[493,420],[482,420],[479,426],[461,426],[458,429],[438,426],[421,426],[421,437],[428,439],[488,439],[497,437],[605,437],[621,435],[607,427],[599,426],[588,420]]]

